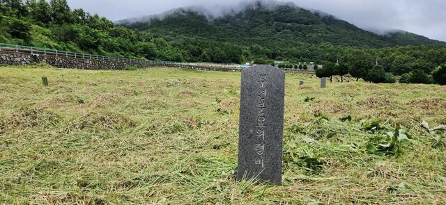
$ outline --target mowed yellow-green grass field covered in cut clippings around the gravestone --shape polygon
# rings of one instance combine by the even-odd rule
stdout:
[[[446,204],[445,86],[319,83],[286,74],[271,186],[234,175],[239,72],[0,67],[0,204]]]

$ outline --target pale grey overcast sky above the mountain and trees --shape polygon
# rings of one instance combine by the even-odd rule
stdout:
[[[204,6],[218,10],[246,0],[68,0],[113,21],[159,14],[173,8]],[[289,0],[303,8],[330,13],[369,31],[401,29],[446,41],[446,0]]]

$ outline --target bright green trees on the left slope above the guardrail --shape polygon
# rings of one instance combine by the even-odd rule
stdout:
[[[117,57],[182,61],[162,38],[115,26],[66,0],[0,0],[0,42]]]

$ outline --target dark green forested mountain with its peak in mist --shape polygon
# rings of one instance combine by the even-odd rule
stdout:
[[[259,44],[270,48],[302,43],[367,48],[444,44],[411,33],[377,35],[332,15],[311,12],[291,3],[277,2],[271,6],[263,1],[254,1],[244,10],[222,17],[208,17],[205,13],[197,8],[180,8],[162,18],[155,16],[118,23],[140,31],[150,31],[167,40],[196,37],[245,46]]]

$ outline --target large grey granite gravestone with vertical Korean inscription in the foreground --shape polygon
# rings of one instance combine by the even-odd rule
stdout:
[[[285,73],[269,65],[242,72],[238,176],[282,184]]]

